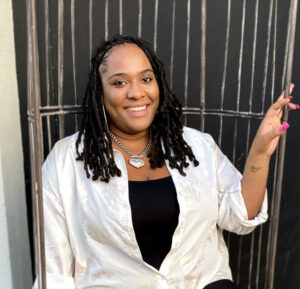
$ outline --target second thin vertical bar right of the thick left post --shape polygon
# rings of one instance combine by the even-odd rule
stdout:
[[[58,106],[63,111],[64,85],[64,1],[58,1]],[[59,137],[64,137],[64,115],[59,115]]]

